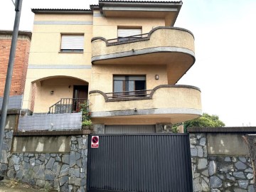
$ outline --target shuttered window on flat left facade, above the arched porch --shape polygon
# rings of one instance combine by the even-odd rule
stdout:
[[[61,52],[83,52],[84,36],[83,35],[62,35]]]

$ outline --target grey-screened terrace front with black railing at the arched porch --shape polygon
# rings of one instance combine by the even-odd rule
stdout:
[[[18,131],[63,131],[82,127],[80,104],[87,98],[61,98],[49,107],[48,113],[21,116]]]

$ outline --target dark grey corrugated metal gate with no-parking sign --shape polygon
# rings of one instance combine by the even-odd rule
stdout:
[[[193,191],[188,134],[97,134],[89,137],[89,192]]]

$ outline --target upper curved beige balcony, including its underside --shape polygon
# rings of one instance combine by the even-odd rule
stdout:
[[[92,38],[94,65],[166,65],[170,85],[176,84],[195,60],[193,34],[183,28],[161,26],[139,36]]]

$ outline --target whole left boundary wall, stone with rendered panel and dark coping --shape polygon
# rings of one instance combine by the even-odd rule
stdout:
[[[87,132],[88,130],[62,131],[56,134],[56,132],[16,133],[13,130],[6,130],[0,174],[40,188],[86,191]],[[33,147],[25,147],[29,146],[27,142],[33,140],[33,137],[41,139],[37,144],[41,145],[39,152],[31,150]],[[51,138],[52,149],[43,147],[48,145],[47,138]],[[13,149],[16,151],[11,151],[12,140],[18,141],[13,144]],[[63,142],[59,142],[60,140]],[[69,146],[65,146],[63,151],[56,151],[61,149],[61,144]]]

